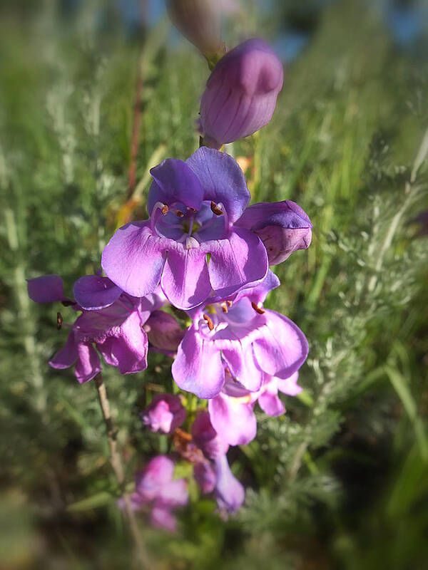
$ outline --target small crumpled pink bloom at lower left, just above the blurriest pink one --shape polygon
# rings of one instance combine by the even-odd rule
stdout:
[[[178,396],[158,394],[140,415],[152,432],[172,433],[184,422],[185,408]]]

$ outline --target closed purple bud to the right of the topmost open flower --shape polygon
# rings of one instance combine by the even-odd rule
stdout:
[[[260,202],[249,206],[237,222],[258,234],[270,265],[280,264],[297,249],[307,249],[312,239],[312,223],[291,200]]]

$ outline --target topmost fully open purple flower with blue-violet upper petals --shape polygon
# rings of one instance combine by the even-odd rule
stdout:
[[[117,286],[144,296],[161,282],[171,304],[190,309],[212,289],[225,296],[263,279],[262,240],[235,227],[250,193],[232,157],[202,147],[186,162],[164,160],[151,174],[150,219],[118,229],[103,251],[103,269]]]

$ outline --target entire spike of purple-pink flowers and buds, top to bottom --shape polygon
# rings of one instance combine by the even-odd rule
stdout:
[[[267,415],[281,415],[278,393],[301,390],[305,335],[264,303],[280,285],[270,266],[309,247],[312,224],[287,199],[250,205],[242,170],[219,150],[270,121],[282,88],[281,62],[260,39],[225,53],[213,3],[170,0],[168,7],[212,68],[200,101],[202,144],[187,160],[168,158],[151,169],[148,219],[113,234],[101,256],[106,276],[81,277],[73,298],[57,275],[29,279],[28,288],[34,301],[60,301],[78,312],[73,323],[58,313],[58,328],[69,334],[49,363],[76,365],[81,383],[101,371],[100,355],[122,374],[147,368],[149,348],[173,358],[177,390],[199,398],[198,409],[186,418],[184,393],[158,394],[141,413],[143,425],[170,435],[175,457],[193,464],[201,492],[213,493],[226,516],[245,497],[230,471],[229,446],[254,439],[256,402]],[[162,310],[168,302],[184,311],[185,330]],[[138,472],[131,496],[133,508],[150,508],[153,524],[170,530],[173,509],[188,501],[185,480],[173,473],[170,457],[155,457]]]

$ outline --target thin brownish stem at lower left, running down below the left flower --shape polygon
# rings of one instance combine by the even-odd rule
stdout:
[[[101,412],[103,413],[104,423],[106,424],[108,447],[110,449],[111,467],[113,467],[113,471],[114,474],[116,475],[118,486],[121,489],[121,496],[123,499],[123,504],[125,506],[124,511],[126,514],[126,519],[128,520],[129,529],[131,530],[133,541],[136,547],[138,566],[143,569],[150,569],[152,566],[148,558],[146,546],[144,545],[141,532],[138,529],[136,515],[131,507],[131,500],[129,498],[129,494],[126,493],[125,491],[125,475],[123,471],[123,464],[121,460],[121,455],[118,452],[117,434],[116,430],[113,427],[113,420],[111,419],[111,413],[110,413],[110,403],[108,402],[106,385],[104,384],[102,374],[98,373],[94,381],[96,385],[96,391],[98,393],[98,401],[100,403]]]

